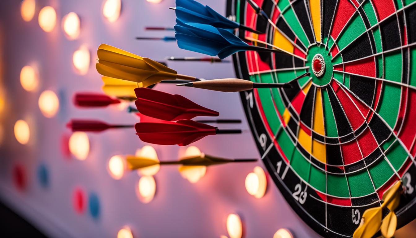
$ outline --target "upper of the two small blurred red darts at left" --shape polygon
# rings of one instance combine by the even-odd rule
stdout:
[[[120,100],[110,98],[105,94],[99,93],[76,93],[74,104],[84,108],[106,107],[110,104],[120,103]]]

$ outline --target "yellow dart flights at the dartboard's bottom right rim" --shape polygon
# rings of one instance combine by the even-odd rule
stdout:
[[[392,235],[394,235],[397,223],[395,220],[396,214],[387,215],[383,219],[383,225],[381,219],[382,210],[383,208],[388,208],[390,213],[394,213],[394,209],[399,205],[400,188],[401,182],[399,180],[384,192],[383,203],[381,203],[381,206],[365,210],[361,218],[361,223],[355,230],[353,238],[371,238],[380,230],[380,228],[383,228],[381,232],[384,233],[383,235],[386,235],[384,237],[391,238]]]

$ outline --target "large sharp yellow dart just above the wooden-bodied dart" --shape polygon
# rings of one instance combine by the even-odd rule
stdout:
[[[96,68],[101,75],[142,83],[147,87],[162,80],[196,80],[195,77],[178,74],[175,70],[149,58],[102,44],[97,50]]]

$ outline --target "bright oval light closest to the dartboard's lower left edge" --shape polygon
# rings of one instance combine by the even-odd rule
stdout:
[[[256,166],[254,172],[245,177],[245,189],[250,195],[262,198],[266,192],[266,187],[266,174],[260,166]]]

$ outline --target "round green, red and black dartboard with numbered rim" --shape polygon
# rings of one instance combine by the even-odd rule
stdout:
[[[292,86],[241,93],[261,158],[288,203],[319,234],[351,237],[364,211],[401,180],[398,226],[414,219],[415,2],[254,2],[259,14],[246,0],[228,0],[227,15],[264,34],[236,34],[285,53],[233,60],[240,78]]]

